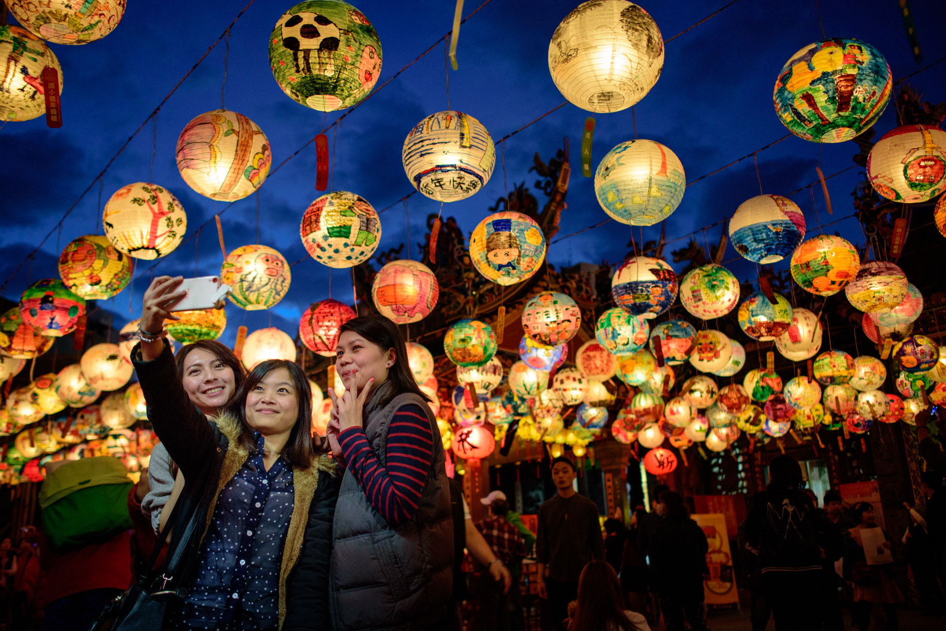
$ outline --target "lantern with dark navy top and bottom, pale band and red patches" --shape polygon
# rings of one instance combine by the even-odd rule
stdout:
[[[674,304],[679,286],[674,269],[660,259],[636,256],[625,261],[611,279],[611,296],[625,311],[654,318]]]

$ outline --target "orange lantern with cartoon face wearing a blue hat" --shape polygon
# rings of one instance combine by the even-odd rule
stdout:
[[[469,253],[473,266],[484,278],[500,285],[516,284],[531,278],[545,259],[545,249],[545,235],[539,225],[528,215],[512,211],[487,216],[470,235]],[[564,301],[560,304],[563,309],[571,306]],[[524,315],[523,312],[523,321]],[[577,326],[572,325],[574,318],[566,318],[563,314],[562,319],[565,325],[563,333],[574,334],[572,329],[577,330]],[[569,322],[565,322],[566,319]],[[540,320],[534,324],[540,330],[545,326],[545,322]]]

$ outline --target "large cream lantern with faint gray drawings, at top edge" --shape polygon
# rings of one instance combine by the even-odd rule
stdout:
[[[625,110],[657,83],[663,38],[647,11],[624,0],[586,2],[555,28],[549,72],[582,110]]]

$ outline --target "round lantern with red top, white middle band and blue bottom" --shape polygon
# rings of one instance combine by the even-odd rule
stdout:
[[[740,204],[729,219],[732,247],[754,263],[778,263],[805,238],[805,215],[780,195],[760,195]]]

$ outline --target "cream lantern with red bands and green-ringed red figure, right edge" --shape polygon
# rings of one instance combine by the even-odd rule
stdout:
[[[867,179],[880,195],[907,204],[933,199],[946,184],[946,131],[903,125],[887,131],[867,155]]]

